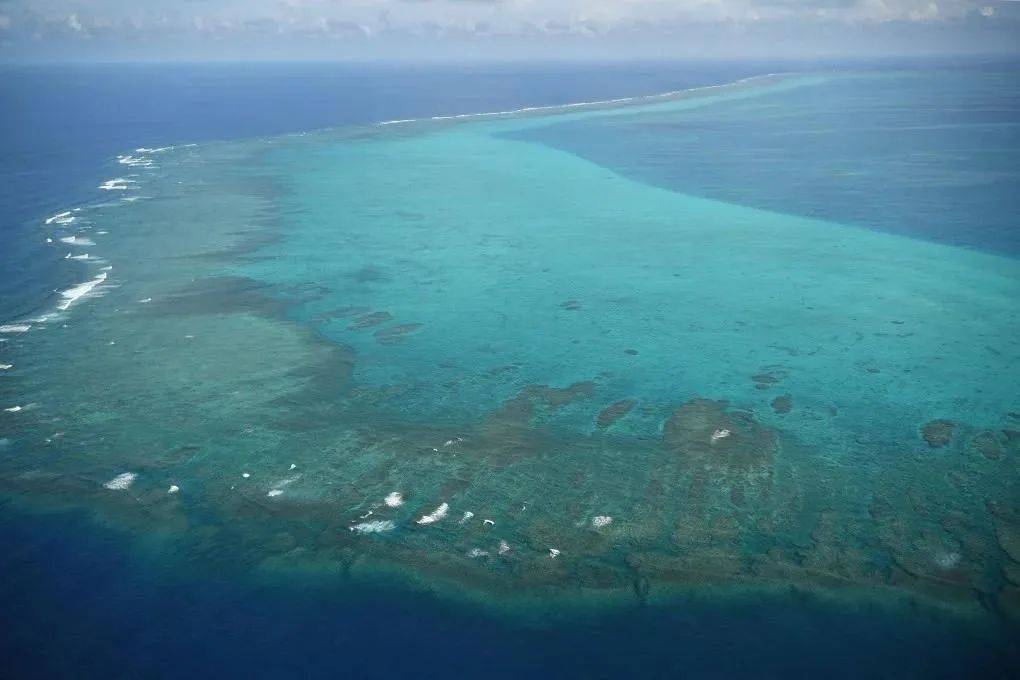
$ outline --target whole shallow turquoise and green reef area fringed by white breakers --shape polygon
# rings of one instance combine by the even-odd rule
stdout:
[[[880,119],[896,79],[955,82],[790,75],[142,152],[48,225],[94,244],[67,250],[96,285],[4,333],[0,484],[203,568],[387,574],[500,616],[796,586],[1008,625],[1010,204],[981,202],[999,236],[961,248],[901,193],[840,194],[897,204],[885,228],[808,216],[814,186],[782,210],[788,169],[767,196],[716,174],[720,195],[641,163],[650,139],[715,154],[692,119],[826,110],[845,85]]]

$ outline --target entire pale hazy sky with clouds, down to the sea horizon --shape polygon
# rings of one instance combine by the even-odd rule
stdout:
[[[1017,0],[0,0],[0,60],[1020,53]]]

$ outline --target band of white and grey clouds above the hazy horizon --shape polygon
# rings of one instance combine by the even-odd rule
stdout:
[[[660,52],[747,35],[778,37],[776,47],[812,37],[927,35],[948,39],[975,25],[1016,38],[1020,18],[1004,0],[0,0],[8,46],[20,39],[88,42],[92,50],[150,45],[180,52],[203,41],[235,46],[239,55],[304,53],[314,45],[362,45],[375,56],[427,52],[454,43],[511,43],[548,49],[574,42],[614,45],[617,52]],[[844,29],[839,29],[844,27]],[[884,28],[883,28],[884,27]],[[913,29],[911,27],[914,27]],[[88,39],[88,41],[86,41]],[[933,39],[933,38],[932,38]],[[909,42],[909,38],[906,39]],[[976,42],[977,39],[969,39]],[[632,42],[631,46],[625,43]],[[866,43],[866,41],[863,41]],[[862,43],[861,50],[867,51]],[[976,43],[975,43],[976,44]],[[200,46],[200,45],[199,45]],[[711,46],[710,46],[711,47]],[[28,49],[28,48],[26,48]],[[68,43],[68,50],[71,49]],[[126,48],[124,48],[126,49]],[[136,49],[136,48],[132,48]],[[137,48],[141,49],[141,48]],[[318,49],[318,48],[315,48]],[[323,50],[333,47],[323,47]],[[508,48],[509,49],[509,48]],[[720,53],[737,47],[719,45]],[[367,53],[367,52],[365,52]],[[328,52],[327,54],[334,54]]]

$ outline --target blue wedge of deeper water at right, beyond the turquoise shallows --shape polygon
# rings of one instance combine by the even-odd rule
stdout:
[[[603,118],[530,137],[685,194],[1015,257],[1016,77],[1001,63],[947,69],[939,88],[923,70],[839,79],[681,119]]]

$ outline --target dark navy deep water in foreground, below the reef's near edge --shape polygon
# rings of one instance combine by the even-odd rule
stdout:
[[[174,576],[74,516],[7,516],[0,540],[10,678],[1006,678],[1017,662],[1009,638],[808,594],[536,628],[422,594]]]

